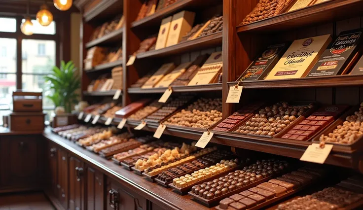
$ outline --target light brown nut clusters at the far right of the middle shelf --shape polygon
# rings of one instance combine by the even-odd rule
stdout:
[[[363,137],[363,103],[353,115],[347,116],[342,125],[327,135],[322,135],[319,140],[328,143],[352,144]]]

